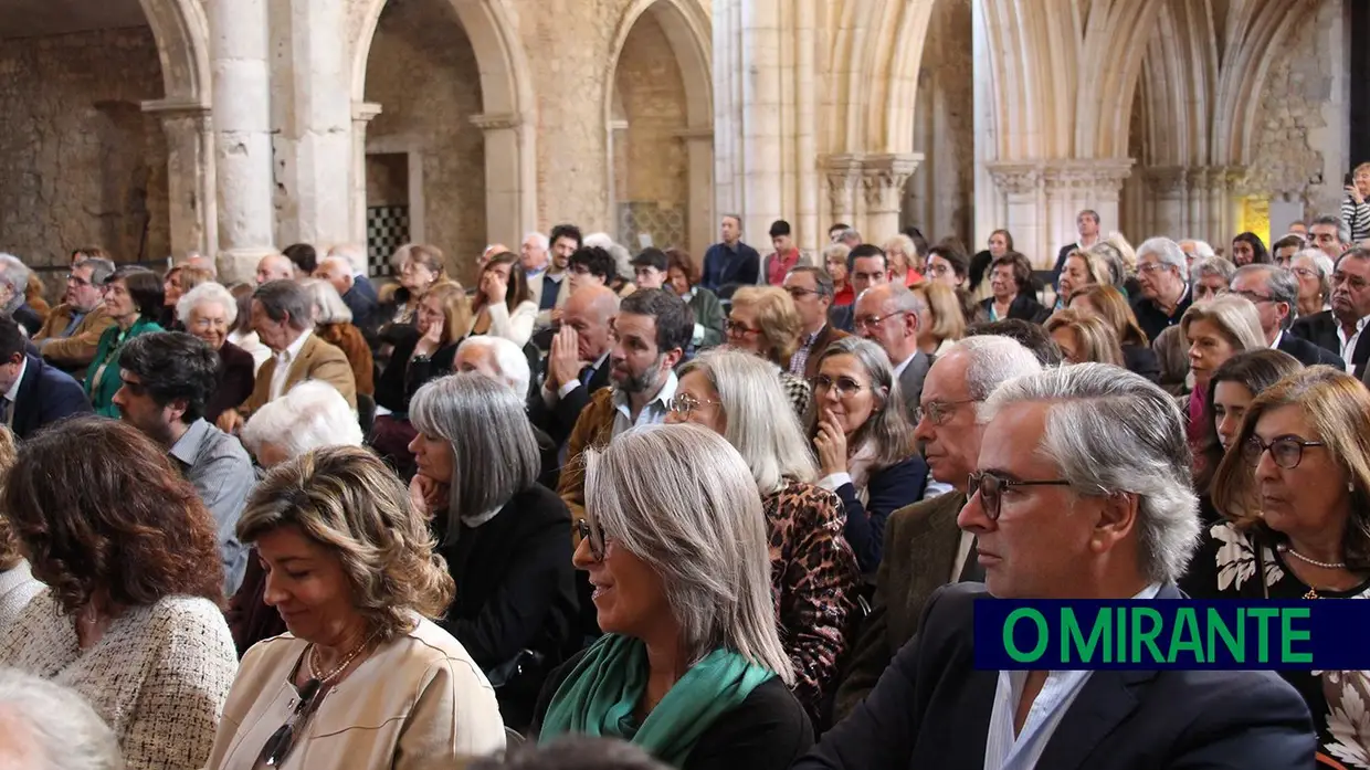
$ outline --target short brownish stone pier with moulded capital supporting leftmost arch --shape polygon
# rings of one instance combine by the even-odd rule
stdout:
[[[218,251],[218,197],[214,182],[214,127],[210,108],[170,100],[144,101],[142,111],[162,121],[167,141],[167,197],[171,252],[214,255]]]

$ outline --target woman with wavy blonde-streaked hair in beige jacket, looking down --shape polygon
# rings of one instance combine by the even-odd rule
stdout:
[[[242,658],[208,769],[444,767],[504,748],[490,684],[432,621],[453,584],[427,521],[379,458],[326,447],[271,469],[238,537],[289,633]]]

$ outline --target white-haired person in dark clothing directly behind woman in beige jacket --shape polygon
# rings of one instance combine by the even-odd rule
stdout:
[[[362,426],[342,393],[327,382],[306,380],[259,408],[242,426],[241,438],[260,467],[273,469],[321,447],[360,447]],[[286,630],[279,612],[266,606],[264,593],[266,571],[253,554],[225,612],[240,656]]]

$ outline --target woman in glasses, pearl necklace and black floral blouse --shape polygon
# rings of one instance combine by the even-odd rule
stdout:
[[[1273,352],[1273,351],[1270,351]],[[1181,588],[1199,599],[1370,599],[1370,392],[1312,366],[1247,408],[1212,481],[1214,523]],[[1366,767],[1366,671],[1282,670],[1319,767]]]

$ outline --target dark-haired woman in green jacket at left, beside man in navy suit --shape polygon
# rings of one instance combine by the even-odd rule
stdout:
[[[162,314],[163,292],[162,278],[147,267],[126,264],[105,278],[104,308],[114,325],[100,336],[85,378],[96,414],[119,417],[119,407],[114,406],[114,395],[123,385],[119,349],[138,334],[162,332],[156,318]]]

